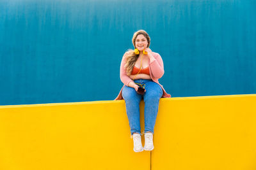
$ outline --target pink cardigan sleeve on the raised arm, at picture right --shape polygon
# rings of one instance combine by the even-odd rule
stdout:
[[[152,76],[154,76],[154,78],[161,78],[164,74],[164,64],[162,57],[159,55],[159,53],[154,53],[153,56],[155,57],[155,60],[149,64]]]

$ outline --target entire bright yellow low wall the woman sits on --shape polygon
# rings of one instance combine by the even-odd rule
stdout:
[[[161,99],[151,159],[132,150],[124,101],[0,106],[0,169],[255,170],[255,104],[256,94]]]

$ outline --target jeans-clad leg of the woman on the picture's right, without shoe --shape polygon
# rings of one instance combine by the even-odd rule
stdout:
[[[154,133],[154,127],[156,123],[156,117],[158,112],[159,99],[163,95],[163,90],[160,85],[154,81],[148,81],[145,83],[145,89],[147,90],[143,96],[145,102],[145,131]]]

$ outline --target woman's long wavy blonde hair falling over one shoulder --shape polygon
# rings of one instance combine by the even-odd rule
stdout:
[[[148,41],[147,48],[148,48],[148,46],[150,45],[150,37],[148,36],[148,33],[144,30],[139,30],[139,31],[134,32],[134,34],[132,36],[132,44],[133,44],[134,48],[136,48],[136,46],[135,46],[136,38],[140,34],[145,36],[145,38],[147,39],[147,41]],[[124,67],[126,69],[127,75],[130,76],[131,73],[132,73],[132,69],[135,65],[135,62],[136,62],[136,60],[138,60],[138,57],[139,57],[140,54],[134,53],[134,50],[132,50],[132,49],[127,50],[126,53],[127,53],[127,55],[126,55],[126,64],[125,64]]]

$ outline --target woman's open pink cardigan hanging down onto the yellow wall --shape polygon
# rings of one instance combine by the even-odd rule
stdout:
[[[149,73],[150,73],[150,77],[152,78],[152,80],[154,82],[156,82],[157,84],[159,84],[162,89],[163,89],[163,96],[162,97],[171,97],[170,94],[167,94],[166,91],[163,88],[163,85],[161,85],[158,82],[158,79],[161,78],[164,74],[164,64],[163,64],[163,60],[161,58],[161,56],[159,55],[159,53],[155,53],[152,52],[153,56],[154,56],[154,60],[152,60],[152,62],[149,63]],[[125,53],[126,54],[126,53]],[[131,78],[129,78],[129,76],[127,76],[126,74],[126,70],[125,70],[125,54],[122,58],[122,62],[121,62],[121,66],[120,66],[120,79],[121,81],[124,83],[124,86],[128,86],[128,84],[130,83]],[[124,88],[124,86],[122,87],[122,89],[120,90],[118,96],[115,98],[115,100],[122,100],[122,90]]]

